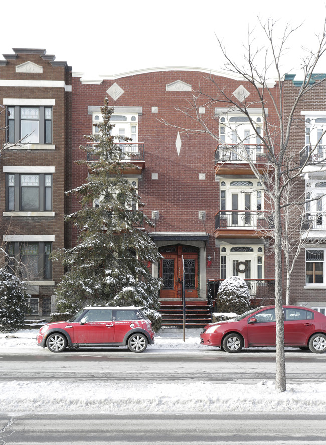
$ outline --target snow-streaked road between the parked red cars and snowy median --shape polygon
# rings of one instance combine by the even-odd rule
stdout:
[[[290,350],[286,355],[287,381],[325,381],[326,354]],[[126,350],[65,351],[54,354],[1,354],[0,379],[11,380],[180,380],[256,383],[275,378],[275,351],[254,350],[228,354],[220,350],[150,350],[135,354]]]

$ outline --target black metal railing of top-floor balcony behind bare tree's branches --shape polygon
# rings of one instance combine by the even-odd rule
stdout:
[[[221,162],[267,162],[267,151],[264,145],[257,144],[219,144],[215,150],[215,164]]]

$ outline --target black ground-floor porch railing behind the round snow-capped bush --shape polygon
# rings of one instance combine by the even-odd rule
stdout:
[[[211,300],[216,299],[219,287],[223,279],[207,281],[207,295]],[[248,286],[250,299],[253,306],[273,304],[275,299],[274,279],[245,279]],[[218,310],[218,308],[217,308]]]

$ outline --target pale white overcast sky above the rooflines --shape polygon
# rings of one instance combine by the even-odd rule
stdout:
[[[319,7],[319,8],[318,8]],[[216,35],[240,57],[248,28],[262,20],[280,26],[304,22],[284,60],[299,65],[300,46],[313,48],[323,28],[323,0],[13,0],[1,6],[0,54],[12,48],[45,48],[74,72],[118,74],[145,68],[188,66],[223,69]],[[318,71],[326,72],[326,56]]]

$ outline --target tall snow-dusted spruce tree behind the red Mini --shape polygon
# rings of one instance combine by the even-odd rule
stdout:
[[[131,210],[144,204],[124,175],[132,153],[126,153],[111,134],[114,109],[108,99],[101,112],[103,121],[96,124],[99,132],[84,136],[86,144],[92,144],[95,160],[77,161],[88,167],[88,181],[68,192],[79,197],[82,205],[66,217],[78,229],[78,244],[53,256],[62,259],[67,270],[57,287],[57,308],[60,312],[76,312],[85,305],[158,309],[161,280],[151,276],[150,264],[161,256],[143,229],[153,223],[142,211]],[[120,141],[130,139],[120,137]],[[123,162],[125,158],[130,162]]]

